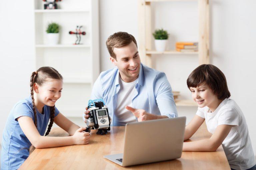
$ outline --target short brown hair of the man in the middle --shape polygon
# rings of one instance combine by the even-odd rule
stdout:
[[[117,32],[112,34],[108,37],[106,41],[106,45],[110,56],[116,59],[116,54],[113,51],[114,48],[126,46],[131,42],[134,42],[136,44],[136,47],[138,48],[137,42],[131,34],[128,34],[126,32]]]

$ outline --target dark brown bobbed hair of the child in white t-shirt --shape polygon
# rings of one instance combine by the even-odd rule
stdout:
[[[219,100],[230,97],[225,75],[212,64],[202,64],[194,69],[187,79],[187,86],[198,87],[207,84]]]

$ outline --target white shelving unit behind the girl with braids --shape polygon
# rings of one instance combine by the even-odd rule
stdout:
[[[91,96],[91,88],[99,69],[99,4],[98,0],[64,0],[58,9],[45,10],[42,0],[34,0],[35,65],[51,66],[63,76],[63,92],[56,103],[67,117],[81,117]],[[60,42],[48,45],[46,28],[49,23],[60,25]],[[76,26],[83,26],[81,44],[74,45]]]

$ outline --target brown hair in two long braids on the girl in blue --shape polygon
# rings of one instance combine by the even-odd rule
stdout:
[[[33,92],[33,86],[34,83],[37,83],[39,86],[43,85],[47,80],[47,78],[55,79],[55,80],[62,80],[63,77],[60,75],[60,73],[52,68],[52,67],[41,67],[37,71],[34,71],[30,77],[30,90],[31,90],[31,98],[32,98],[32,104],[33,104],[33,111],[34,111],[34,124],[37,128],[37,116],[36,116],[36,106],[34,102],[34,92]],[[49,134],[52,128],[52,124],[54,121],[54,115],[55,115],[55,106],[50,107],[51,110],[51,116],[50,116],[50,124],[48,126],[48,129],[45,133],[45,136]]]

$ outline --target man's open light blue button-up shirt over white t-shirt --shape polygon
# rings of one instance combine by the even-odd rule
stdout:
[[[120,90],[118,77],[118,68],[101,72],[91,94],[92,100],[104,100],[112,118],[112,126],[121,126],[115,122],[116,100]],[[178,117],[172,88],[164,72],[156,71],[141,63],[135,88],[133,108],[144,109],[147,113],[165,115],[168,118]]]

